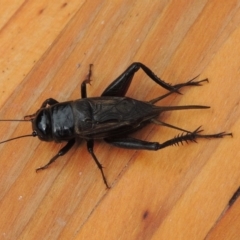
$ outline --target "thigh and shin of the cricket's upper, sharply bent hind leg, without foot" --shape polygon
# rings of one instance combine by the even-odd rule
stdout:
[[[115,96],[115,97],[125,96],[131,84],[134,74],[140,68],[148,75],[148,77],[150,77],[154,82],[156,82],[161,87],[167,89],[168,91],[178,92],[174,86],[161,80],[147,66],[140,62],[134,62],[104,90],[101,96]]]

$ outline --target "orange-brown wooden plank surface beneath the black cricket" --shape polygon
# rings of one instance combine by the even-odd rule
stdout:
[[[172,84],[200,74],[162,105],[211,105],[161,120],[205,133],[233,132],[158,152],[102,141],[95,153],[112,188],[79,142],[36,174],[61,144],[25,138],[0,146],[0,239],[240,239],[240,1],[3,1],[0,8],[0,118],[22,119],[53,97],[77,99],[94,64],[88,96],[99,96],[140,61]],[[128,96],[166,93],[142,71]],[[1,122],[1,139],[31,133]],[[163,142],[179,134],[149,125],[135,134]]]

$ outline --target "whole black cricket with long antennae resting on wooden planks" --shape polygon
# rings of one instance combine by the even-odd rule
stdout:
[[[55,141],[57,143],[63,141],[67,142],[67,144],[46,165],[37,168],[36,171],[46,169],[58,157],[67,153],[74,145],[75,140],[80,138],[86,141],[88,152],[91,154],[100,169],[106,187],[109,188],[103,172],[103,167],[93,151],[94,139],[103,139],[105,142],[121,148],[156,151],[183,142],[196,142],[196,139],[198,138],[222,138],[226,135],[232,135],[231,133],[225,132],[203,135],[200,134],[203,131],[200,127],[191,132],[157,120],[157,117],[164,111],[209,108],[208,106],[200,105],[154,105],[154,103],[173,93],[180,93],[179,90],[183,87],[200,86],[202,82],[207,82],[208,79],[195,81],[196,78],[194,78],[186,83],[170,85],[158,78],[144,64],[135,62],[132,63],[116,80],[114,80],[104,90],[100,97],[88,98],[86,85],[91,81],[91,67],[92,64],[90,65],[87,78],[81,84],[81,99],[62,103],[59,103],[53,98],[45,100],[36,113],[27,115],[24,117],[24,120],[22,120],[32,122],[32,134],[3,141],[7,142],[21,137],[38,136],[42,141]],[[150,101],[139,101],[125,97],[135,72],[140,68],[150,79],[168,90],[168,93]],[[129,137],[129,134],[143,128],[149,123],[174,128],[185,134],[178,135],[163,143],[148,142]]]

